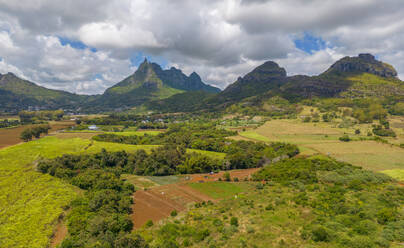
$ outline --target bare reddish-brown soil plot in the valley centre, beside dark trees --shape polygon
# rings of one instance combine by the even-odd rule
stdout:
[[[229,171],[231,178],[249,178],[250,175],[259,168],[246,170]],[[134,228],[142,227],[148,220],[158,222],[170,216],[173,210],[183,211],[190,203],[215,201],[213,198],[187,186],[187,182],[208,182],[218,181],[225,172],[215,174],[192,174],[187,175],[185,181],[163,185],[148,189],[138,190],[133,195],[135,204],[133,205],[132,220]]]

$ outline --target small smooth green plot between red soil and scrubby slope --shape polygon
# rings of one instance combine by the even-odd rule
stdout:
[[[208,195],[214,199],[224,199],[235,197],[248,188],[246,183],[229,183],[229,182],[206,182],[206,183],[190,183],[191,188]]]

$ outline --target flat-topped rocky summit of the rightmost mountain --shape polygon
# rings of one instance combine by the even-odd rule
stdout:
[[[397,77],[397,71],[393,66],[376,60],[372,54],[368,53],[340,59],[323,74],[330,73],[371,73],[385,78]]]

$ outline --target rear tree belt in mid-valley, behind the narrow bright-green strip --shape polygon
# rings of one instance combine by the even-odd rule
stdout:
[[[293,157],[298,154],[294,145],[285,143],[255,143],[251,141],[235,141],[226,139],[234,132],[216,129],[212,124],[176,124],[159,135],[151,136],[119,136],[101,134],[93,139],[97,141],[127,144],[174,144],[180,147],[226,153],[225,162],[216,169],[245,169],[262,166],[275,159]],[[189,160],[189,163],[194,163]],[[188,166],[186,166],[188,167]],[[190,173],[193,170],[184,169]],[[182,171],[181,171],[182,172]]]

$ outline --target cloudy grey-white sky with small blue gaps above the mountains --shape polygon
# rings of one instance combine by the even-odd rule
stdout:
[[[0,73],[102,93],[145,57],[221,88],[266,60],[319,74],[370,52],[404,79],[402,0],[0,0]]]

